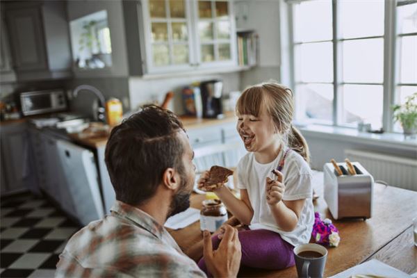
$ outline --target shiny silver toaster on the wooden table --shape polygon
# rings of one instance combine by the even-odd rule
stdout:
[[[346,163],[337,163],[343,172],[338,175],[332,163],[325,163],[324,195],[334,219],[370,218],[373,214],[374,179],[359,162],[352,162],[357,172],[347,172]]]

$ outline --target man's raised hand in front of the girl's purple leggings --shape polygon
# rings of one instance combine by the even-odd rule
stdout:
[[[238,230],[230,225],[225,225],[224,229],[224,237],[217,250],[213,250],[210,233],[204,231],[204,261],[213,277],[236,277],[242,258]]]

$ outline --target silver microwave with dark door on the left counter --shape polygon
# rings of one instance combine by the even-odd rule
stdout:
[[[21,92],[22,114],[37,115],[67,109],[67,99],[63,89]]]

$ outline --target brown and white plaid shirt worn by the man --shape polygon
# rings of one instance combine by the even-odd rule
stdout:
[[[118,201],[72,236],[56,268],[56,277],[206,277],[154,218]]]

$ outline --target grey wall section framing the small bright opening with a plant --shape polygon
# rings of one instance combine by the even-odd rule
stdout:
[[[122,0],[67,1],[67,11],[74,75],[129,76]]]

